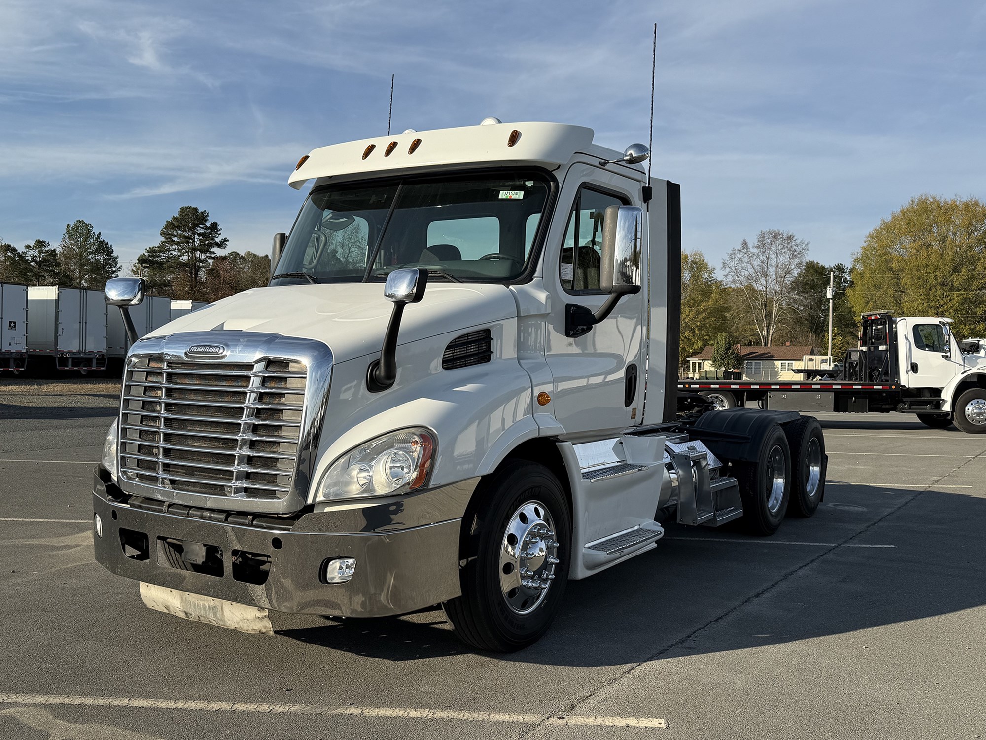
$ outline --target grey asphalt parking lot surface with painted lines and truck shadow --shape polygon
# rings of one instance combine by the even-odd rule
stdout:
[[[986,436],[819,414],[812,519],[766,540],[669,525],[504,656],[441,611],[273,614],[269,637],[146,609],[92,556],[111,390],[0,385],[0,737],[986,735]]]

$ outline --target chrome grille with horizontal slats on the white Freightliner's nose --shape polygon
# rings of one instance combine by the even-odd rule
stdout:
[[[123,481],[176,493],[278,500],[296,475],[308,369],[144,354],[127,363]]]

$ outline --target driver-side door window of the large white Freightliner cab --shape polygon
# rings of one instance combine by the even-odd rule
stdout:
[[[610,205],[626,205],[626,201],[588,186],[580,188],[575,196],[558,265],[558,274],[565,290],[599,293],[602,222]]]

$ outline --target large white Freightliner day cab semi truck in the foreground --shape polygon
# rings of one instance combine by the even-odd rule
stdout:
[[[491,119],[303,157],[270,285],[132,343],[99,561],[226,627],[441,605],[509,651],[662,522],[810,516],[817,421],[676,412],[679,188],[648,155]],[[141,294],[106,285],[123,309]]]

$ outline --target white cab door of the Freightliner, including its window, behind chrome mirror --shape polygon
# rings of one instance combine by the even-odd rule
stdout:
[[[592,437],[640,422],[647,286],[623,296],[612,313],[582,336],[565,334],[570,305],[597,311],[605,210],[640,203],[642,183],[614,170],[574,164],[565,177],[546,244],[542,274],[552,296],[545,360],[553,376],[552,410],[569,435]],[[646,234],[646,229],[645,229]],[[644,240],[646,263],[647,241]],[[646,269],[641,270],[646,275]]]

